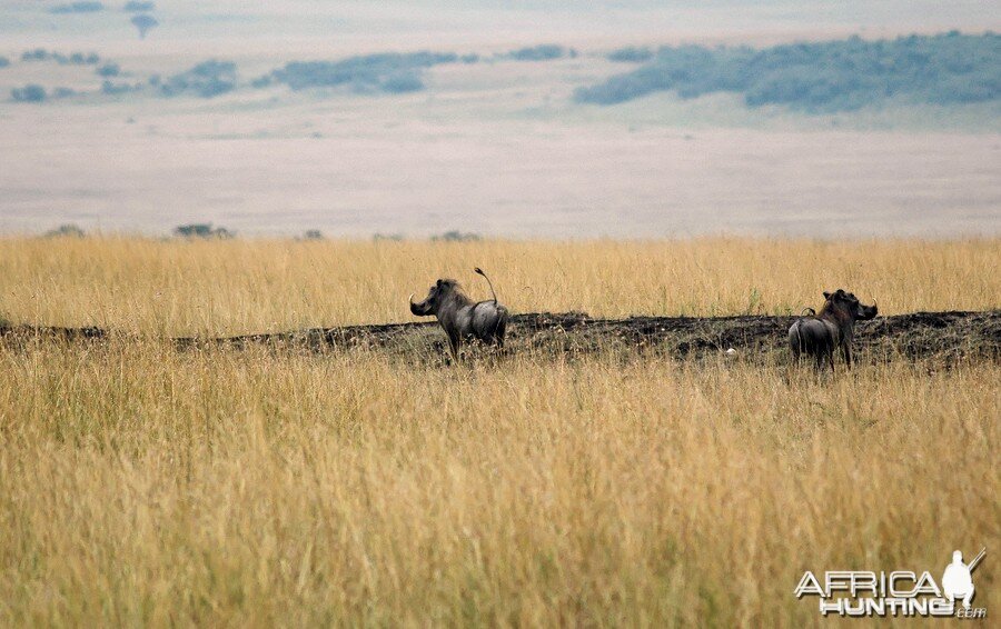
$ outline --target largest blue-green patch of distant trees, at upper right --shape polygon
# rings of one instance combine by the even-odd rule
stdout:
[[[953,104],[1001,97],[1001,36],[910,36],[792,43],[755,50],[661,48],[648,63],[575,92],[578,102],[614,104],[657,91],[681,98],[739,92],[750,107],[850,111],[899,99]]]

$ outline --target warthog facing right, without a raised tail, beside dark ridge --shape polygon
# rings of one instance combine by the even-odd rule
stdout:
[[[872,319],[876,316],[876,306],[864,306],[851,292],[840,288],[824,293],[824,307],[815,317],[801,317],[789,329],[789,346],[793,358],[807,353],[816,361],[820,369],[827,363],[834,370],[834,350],[841,348],[849,369],[852,367],[852,338],[855,321]]]

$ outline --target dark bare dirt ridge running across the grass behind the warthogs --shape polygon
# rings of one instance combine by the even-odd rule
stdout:
[[[509,353],[535,351],[571,355],[651,352],[681,359],[703,359],[733,348],[737,358],[756,361],[787,353],[786,331],[795,319],[756,314],[593,319],[583,312],[532,312],[512,318],[507,350]],[[99,341],[117,336],[120,335],[93,327],[0,327],[0,339],[4,343],[29,339]],[[446,351],[445,337],[434,321],[171,340],[180,349],[239,349],[255,345],[309,351],[367,348],[420,357],[444,355]],[[855,350],[863,361],[932,359],[949,365],[961,360],[1001,361],[1001,310],[878,317],[858,323]]]

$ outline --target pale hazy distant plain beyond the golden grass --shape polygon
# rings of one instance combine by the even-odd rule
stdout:
[[[764,49],[851,34],[998,30],[1001,14],[982,2],[568,9],[553,1],[226,0],[125,12],[121,0],[96,11],[56,9],[72,3],[0,7],[0,57],[10,61],[0,67],[8,156],[0,233],[75,223],[165,234],[195,222],[249,236],[317,229],[353,238],[1001,231],[993,73],[975,102],[749,107],[715,88],[681,97],[657,88],[614,104],[575,97],[646,68],[607,58],[624,47]],[[157,22],[142,40],[129,23],[137,13]],[[512,57],[541,44],[562,52]],[[37,49],[44,58],[22,58]],[[477,61],[384,70],[377,80],[395,81],[386,87],[281,82],[290,62],[422,50]],[[75,52],[100,61],[68,60]],[[983,54],[994,59],[990,47]],[[212,69],[222,74],[208,87],[185,82],[208,60],[232,66]],[[24,91],[31,86],[42,93]]]

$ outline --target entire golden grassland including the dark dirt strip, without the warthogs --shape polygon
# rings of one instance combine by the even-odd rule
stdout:
[[[939,580],[984,547],[1001,612],[999,263],[998,239],[2,239],[0,625],[815,626],[806,570]],[[505,343],[454,357],[408,298],[493,304],[477,267]],[[794,361],[838,289],[878,308],[851,369]]]

